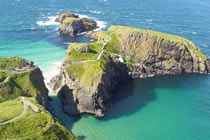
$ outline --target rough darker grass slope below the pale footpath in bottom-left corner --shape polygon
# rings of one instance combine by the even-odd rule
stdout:
[[[23,117],[0,126],[0,139],[76,139],[71,132],[39,105],[34,98],[26,99],[37,106],[41,112],[35,113],[28,107]],[[14,104],[13,107],[15,106]]]

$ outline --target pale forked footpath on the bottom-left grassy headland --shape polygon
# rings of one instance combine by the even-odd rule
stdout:
[[[4,125],[4,124],[7,124],[7,123],[10,123],[10,122],[13,122],[13,121],[15,121],[15,120],[21,118],[21,117],[26,113],[27,107],[28,107],[28,106],[30,106],[35,112],[39,112],[39,111],[40,111],[38,107],[36,107],[36,106],[33,105],[32,103],[30,103],[30,102],[29,102],[28,100],[26,100],[24,97],[22,97],[21,102],[23,103],[23,112],[22,112],[19,116],[15,117],[15,118],[13,118],[13,119],[11,119],[11,120],[8,120],[8,121],[6,121],[6,122],[0,123],[0,126],[1,126],[1,125]]]

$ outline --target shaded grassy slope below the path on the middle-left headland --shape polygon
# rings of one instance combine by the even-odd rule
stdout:
[[[39,76],[40,71],[11,73],[3,82],[0,82],[0,103],[15,99],[18,96],[46,96],[47,89]]]

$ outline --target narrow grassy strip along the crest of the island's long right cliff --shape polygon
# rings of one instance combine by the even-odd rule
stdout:
[[[117,47],[120,47],[119,39],[123,39],[123,36],[128,35],[135,35],[135,34],[143,34],[147,37],[154,38],[162,38],[169,41],[178,42],[184,46],[187,47],[187,49],[190,51],[190,53],[197,55],[201,58],[201,60],[206,60],[207,57],[201,52],[200,48],[196,47],[191,41],[175,35],[165,34],[161,32],[156,32],[152,30],[146,30],[146,29],[139,29],[139,28],[133,28],[133,27],[127,27],[127,26],[111,26],[108,31],[102,31],[94,33],[93,36],[96,36],[101,39],[107,39],[108,36],[112,33],[112,42],[109,43],[109,46],[112,46],[111,49],[116,49]]]

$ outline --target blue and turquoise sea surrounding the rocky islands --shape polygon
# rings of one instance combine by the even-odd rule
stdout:
[[[33,60],[46,83],[58,72],[71,42],[54,19],[71,11],[98,21],[101,30],[126,25],[192,40],[210,57],[208,0],[1,0],[0,57]],[[161,76],[127,81],[113,91],[106,116],[70,117],[54,93],[60,122],[85,140],[210,140],[210,76]]]

